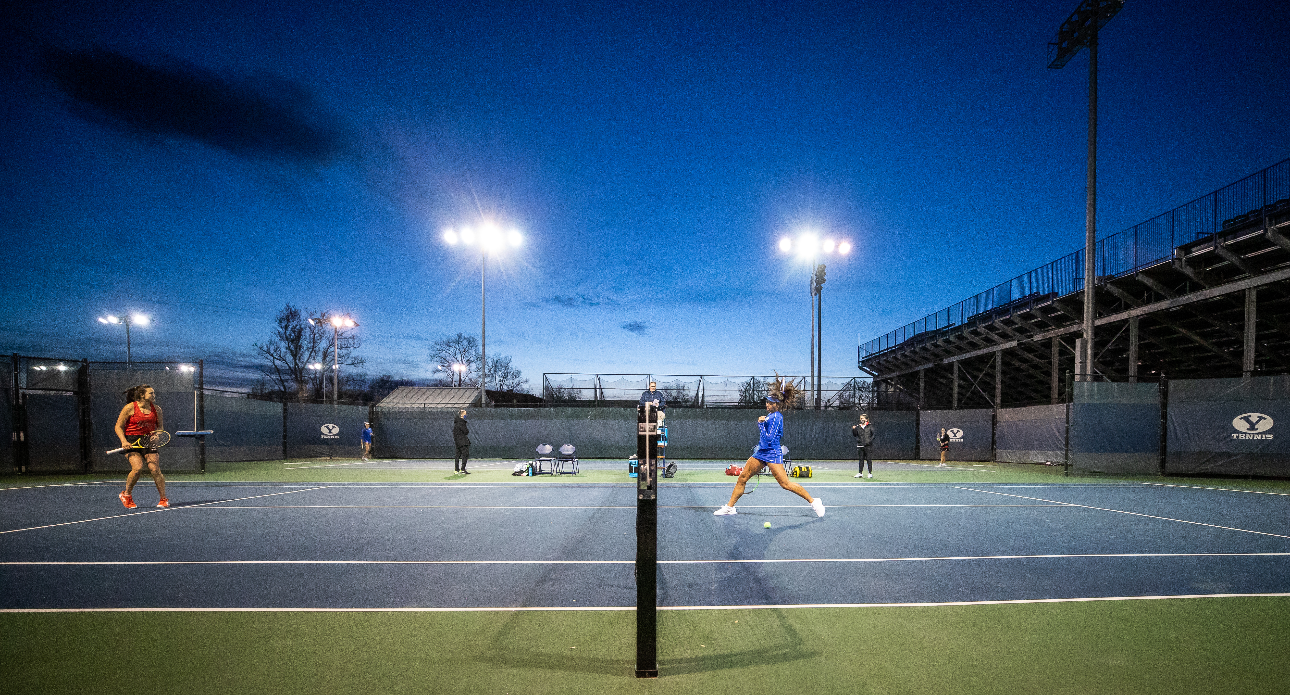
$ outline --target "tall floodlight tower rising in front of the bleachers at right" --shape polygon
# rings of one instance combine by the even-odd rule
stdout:
[[[1080,0],[1049,43],[1049,67],[1060,70],[1089,46],[1089,183],[1084,220],[1084,346],[1076,351],[1076,380],[1093,380],[1093,289],[1098,284],[1098,31],[1125,6],[1125,0]],[[1080,374],[1084,373],[1084,375]]]

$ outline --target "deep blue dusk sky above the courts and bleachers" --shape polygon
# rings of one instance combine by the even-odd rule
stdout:
[[[426,379],[480,322],[441,231],[486,217],[525,235],[490,260],[488,344],[530,378],[805,374],[808,271],[777,249],[804,227],[854,245],[824,371],[859,375],[858,340],[1082,246],[1087,61],[1046,68],[1075,4],[19,9],[0,349],[116,358],[94,317],[143,312],[135,358],[237,386],[292,302]],[[1099,236],[1290,156],[1287,28],[1271,0],[1112,19]]]

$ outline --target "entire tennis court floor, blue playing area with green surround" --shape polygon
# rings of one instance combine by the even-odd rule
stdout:
[[[659,484],[658,681],[632,678],[622,462],[526,478],[506,460],[472,476],[444,460],[230,465],[174,476],[170,509],[147,507],[142,484],[123,509],[115,478],[3,490],[4,633],[32,655],[12,676],[19,691],[126,691],[117,677],[138,669],[199,691],[218,677],[313,692],[1290,682],[1284,482],[911,462],[855,480],[811,462],[826,517],[769,480],[713,517],[728,463]]]

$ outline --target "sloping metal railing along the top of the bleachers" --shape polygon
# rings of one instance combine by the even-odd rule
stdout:
[[[1131,275],[1173,257],[1174,249],[1271,213],[1290,209],[1290,159],[1096,242],[1096,282]],[[881,338],[860,343],[858,358],[913,340],[939,339],[1084,289],[1084,249],[975,297],[951,304]],[[863,337],[862,337],[863,339]]]

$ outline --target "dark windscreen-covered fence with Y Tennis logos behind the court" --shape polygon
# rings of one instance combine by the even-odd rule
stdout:
[[[175,437],[166,471],[205,462],[353,458],[362,422],[374,455],[452,458],[450,409],[299,404],[228,397],[205,389],[201,362],[89,362],[0,357],[0,416],[10,446],[0,471],[124,472],[114,432],[124,391],[151,384],[170,432],[214,429],[205,446]],[[873,458],[937,460],[940,428],[949,460],[1060,463],[1072,475],[1231,475],[1290,477],[1290,377],[1069,384],[1067,404],[1002,410],[869,410]],[[759,409],[672,407],[670,458],[743,459],[757,438]],[[633,451],[632,407],[472,407],[472,458],[522,460],[539,444],[573,444],[587,459]],[[854,460],[858,410],[789,410],[783,444],[804,460]],[[1281,429],[1276,426],[1281,423]],[[1281,435],[1281,436],[1278,436]]]

